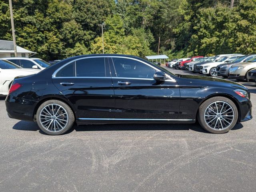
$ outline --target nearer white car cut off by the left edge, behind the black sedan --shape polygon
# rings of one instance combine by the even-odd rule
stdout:
[[[16,64],[0,59],[0,95],[8,95],[12,81],[17,76],[32,75],[40,72],[38,69],[23,69]]]

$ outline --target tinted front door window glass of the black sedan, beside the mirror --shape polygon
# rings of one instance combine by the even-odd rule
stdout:
[[[142,62],[128,58],[112,58],[117,77],[153,78],[156,70]]]

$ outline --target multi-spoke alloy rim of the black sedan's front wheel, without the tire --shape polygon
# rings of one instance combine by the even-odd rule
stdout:
[[[227,102],[213,102],[206,108],[204,120],[211,129],[224,130],[234,121],[234,109]]]

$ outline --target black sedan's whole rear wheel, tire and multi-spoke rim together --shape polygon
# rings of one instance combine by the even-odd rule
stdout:
[[[74,121],[71,108],[59,100],[48,100],[42,103],[36,113],[38,126],[50,135],[64,134],[73,126]]]

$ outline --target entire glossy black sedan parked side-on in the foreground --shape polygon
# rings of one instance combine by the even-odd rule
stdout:
[[[14,79],[6,98],[10,118],[35,121],[47,134],[74,123],[194,123],[225,133],[250,120],[249,90],[203,76],[175,75],[136,56],[99,54],[62,60]]]

